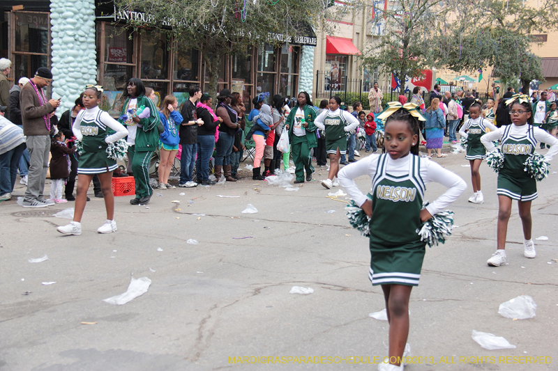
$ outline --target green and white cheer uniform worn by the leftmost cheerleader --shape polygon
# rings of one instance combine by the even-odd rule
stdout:
[[[98,106],[77,113],[72,132],[82,142],[83,153],[77,164],[78,174],[102,174],[118,167],[116,160],[107,157],[108,143],[128,135],[126,127]]]

